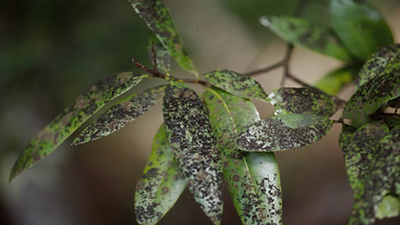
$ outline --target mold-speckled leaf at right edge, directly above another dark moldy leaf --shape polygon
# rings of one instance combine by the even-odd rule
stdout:
[[[377,50],[362,66],[358,86],[360,87],[370,79],[381,75],[387,66],[399,67],[399,65],[400,44],[388,45]]]

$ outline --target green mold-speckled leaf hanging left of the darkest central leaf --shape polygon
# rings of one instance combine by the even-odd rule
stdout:
[[[135,214],[138,223],[157,224],[177,202],[186,185],[162,124],[155,134],[150,158],[136,185]]]

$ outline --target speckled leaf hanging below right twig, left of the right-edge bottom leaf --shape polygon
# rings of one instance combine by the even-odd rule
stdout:
[[[339,144],[345,156],[348,180],[352,187],[355,199],[360,198],[363,192],[363,185],[368,179],[369,168],[374,163],[374,154],[379,140],[389,132],[384,121],[374,121],[358,128],[357,131],[347,132],[348,128],[343,127]]]

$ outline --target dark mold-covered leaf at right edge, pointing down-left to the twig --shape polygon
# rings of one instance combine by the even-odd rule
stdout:
[[[343,110],[343,118],[357,119],[368,116],[387,101],[400,96],[400,67],[386,71],[357,89]]]

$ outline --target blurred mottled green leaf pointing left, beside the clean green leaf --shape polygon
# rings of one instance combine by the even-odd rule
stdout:
[[[260,23],[280,38],[323,55],[351,62],[352,56],[327,26],[291,16],[262,16]]]

